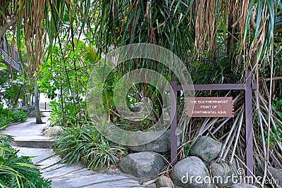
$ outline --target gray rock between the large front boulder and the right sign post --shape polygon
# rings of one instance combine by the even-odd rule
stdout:
[[[219,187],[228,187],[238,182],[232,166],[227,163],[213,163],[211,172],[214,184]]]

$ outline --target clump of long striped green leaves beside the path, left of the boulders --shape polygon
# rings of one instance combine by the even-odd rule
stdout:
[[[64,132],[53,144],[61,162],[68,165],[82,161],[87,168],[109,168],[118,163],[126,150],[109,142],[93,126],[64,127]]]

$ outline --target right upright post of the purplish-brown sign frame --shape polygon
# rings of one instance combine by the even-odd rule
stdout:
[[[252,177],[254,171],[253,158],[253,127],[252,127],[252,71],[247,70],[245,75],[245,145],[246,145],[246,176]],[[247,178],[248,180],[252,178]],[[251,180],[252,181],[252,180]],[[253,182],[247,182],[253,183]]]

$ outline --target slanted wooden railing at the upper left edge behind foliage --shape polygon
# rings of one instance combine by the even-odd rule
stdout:
[[[5,63],[12,70],[20,71],[20,64],[18,63],[18,51],[12,47],[10,43],[7,42],[5,37],[0,39],[0,55],[4,58],[2,62]]]

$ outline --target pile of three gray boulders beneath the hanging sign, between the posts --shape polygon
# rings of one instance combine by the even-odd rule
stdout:
[[[228,187],[233,184],[227,177],[235,172],[227,163],[215,163],[213,160],[219,157],[221,142],[210,137],[200,137],[192,145],[190,156],[174,165],[171,171],[173,182],[180,187]],[[212,177],[209,174],[209,169]]]

